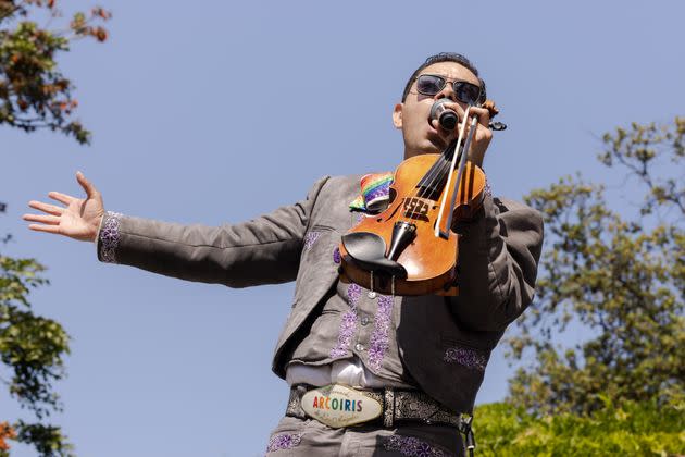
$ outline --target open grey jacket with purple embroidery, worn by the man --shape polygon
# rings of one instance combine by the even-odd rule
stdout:
[[[360,176],[324,177],[307,199],[234,225],[179,225],[108,213],[101,260],[232,287],[296,281],[273,371],[338,279],[334,249],[353,223]],[[103,243],[103,239],[105,243]],[[471,411],[489,354],[533,299],[543,242],[540,214],[486,196],[463,227],[458,297],[404,297],[394,316],[402,361],[418,385],[456,411]],[[104,252],[104,255],[103,255]]]

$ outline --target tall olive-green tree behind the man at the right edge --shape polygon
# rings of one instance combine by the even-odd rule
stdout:
[[[684,134],[685,119],[676,118],[605,135],[601,162],[647,188],[633,217],[611,209],[605,187],[580,176],[527,197],[545,215],[546,247],[536,304],[509,338],[514,358],[535,355],[510,381],[513,404],[540,415],[586,413],[603,399],[685,398]],[[589,339],[553,343],[577,328],[589,329]]]

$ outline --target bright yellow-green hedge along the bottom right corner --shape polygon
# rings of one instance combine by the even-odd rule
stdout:
[[[478,456],[676,456],[685,453],[685,404],[607,402],[589,416],[540,417],[499,403],[476,407]]]

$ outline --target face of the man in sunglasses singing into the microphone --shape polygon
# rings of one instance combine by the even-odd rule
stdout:
[[[439,62],[423,69],[419,75],[439,75],[451,81],[466,81],[479,86],[481,83],[471,70],[456,62]],[[449,144],[448,133],[434,128],[428,122],[431,107],[436,100],[449,98],[456,101],[462,110],[466,103],[457,100],[451,83],[443,87],[435,96],[425,96],[416,91],[416,82],[412,83],[409,95],[403,103],[398,103],[393,112],[393,123],[402,131],[404,138],[404,158],[421,153],[439,153]],[[463,111],[462,111],[463,112]]]

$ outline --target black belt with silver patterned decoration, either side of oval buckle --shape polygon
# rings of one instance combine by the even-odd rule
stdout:
[[[312,388],[316,387],[298,384],[290,388],[286,416],[300,419],[309,418],[302,409],[302,396]],[[375,399],[383,408],[378,418],[364,422],[364,424],[382,424],[391,428],[397,422],[420,421],[426,424],[461,425],[460,413],[452,412],[421,391],[376,388],[359,390],[358,392]]]

